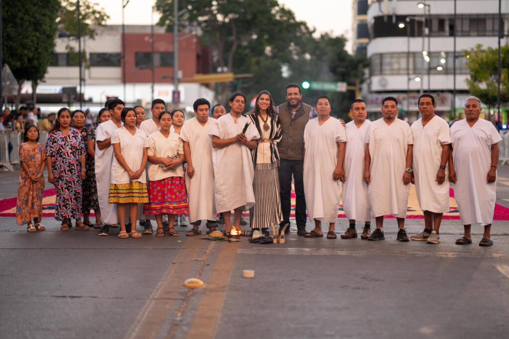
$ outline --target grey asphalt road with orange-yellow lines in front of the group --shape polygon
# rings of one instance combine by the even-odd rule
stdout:
[[[16,174],[0,173],[0,199]],[[509,206],[509,166],[498,203]],[[120,240],[97,232],[29,234],[0,218],[0,333],[4,338],[478,338],[509,331],[509,230],[492,248],[458,246],[459,221],[438,245],[304,239],[285,244],[200,237]],[[336,231],[346,227],[341,220]],[[308,225],[308,229],[311,226]],[[422,221],[408,220],[416,233]],[[295,228],[292,229],[295,231]],[[242,277],[254,269],[255,277]],[[207,287],[189,290],[185,279]]]

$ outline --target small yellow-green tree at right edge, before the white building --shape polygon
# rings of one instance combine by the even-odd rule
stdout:
[[[466,80],[468,91],[488,106],[488,118],[491,108],[497,105],[498,96],[498,49],[483,49],[477,45],[463,52],[468,57],[467,68],[470,78]],[[509,46],[500,49],[500,103],[509,103]]]

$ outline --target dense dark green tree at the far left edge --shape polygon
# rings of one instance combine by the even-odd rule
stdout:
[[[18,81],[16,109],[23,83],[31,80],[37,88],[51,64],[59,10],[59,0],[6,0],[3,3],[2,66],[8,64]]]

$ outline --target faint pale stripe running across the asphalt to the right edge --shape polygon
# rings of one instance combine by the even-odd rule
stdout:
[[[290,249],[240,249],[238,254],[258,255],[258,254],[269,254],[269,255],[307,255],[307,256],[380,256],[380,250],[374,249],[371,251],[355,251],[352,249],[345,250],[330,250],[330,249],[304,249],[304,248],[290,248]],[[384,251],[384,256],[408,256],[413,255],[417,257],[445,257],[445,258],[509,258],[509,254],[506,253],[484,253],[484,252],[472,252],[472,253],[458,253],[458,252],[435,252],[435,251]]]

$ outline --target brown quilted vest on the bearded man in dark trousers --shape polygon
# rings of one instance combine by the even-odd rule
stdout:
[[[287,160],[304,160],[304,128],[309,119],[311,106],[302,103],[292,119],[288,103],[279,105],[279,123],[282,138],[277,144],[279,158]]]

